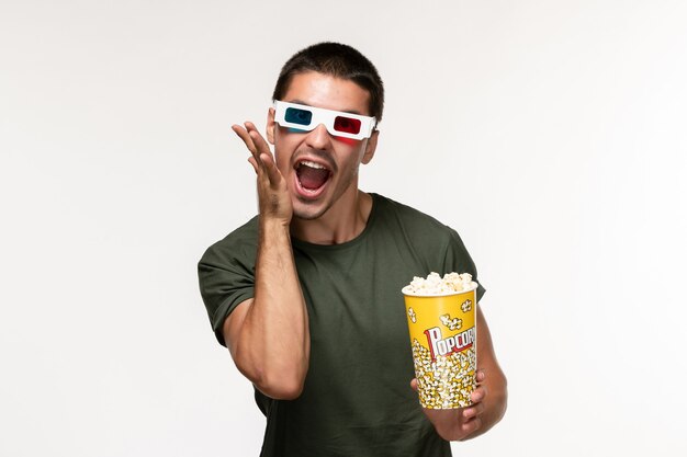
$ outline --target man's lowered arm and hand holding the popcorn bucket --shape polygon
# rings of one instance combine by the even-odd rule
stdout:
[[[424,409],[439,436],[447,441],[465,441],[492,429],[506,413],[507,381],[498,366],[492,334],[477,306],[477,388],[471,395],[472,405],[453,410]],[[417,390],[417,381],[412,382]]]

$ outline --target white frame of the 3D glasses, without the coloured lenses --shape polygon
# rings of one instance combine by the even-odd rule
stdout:
[[[286,110],[290,107],[296,108],[296,110],[309,111],[311,113],[313,113],[311,123],[308,125],[303,125],[303,124],[288,122],[285,116],[286,116]],[[335,130],[334,122],[338,116],[360,121],[360,132],[357,134],[350,134],[348,132]],[[282,127],[295,128],[297,130],[304,130],[304,132],[312,132],[319,124],[324,124],[325,127],[327,128],[327,132],[329,132],[330,135],[337,136],[337,137],[344,137],[344,138],[351,138],[351,139],[370,138],[372,136],[372,132],[374,130],[374,127],[376,126],[376,118],[374,117],[361,116],[359,114],[346,113],[342,111],[325,110],[323,107],[301,105],[299,103],[282,102],[280,100],[274,101],[274,122],[281,125]]]

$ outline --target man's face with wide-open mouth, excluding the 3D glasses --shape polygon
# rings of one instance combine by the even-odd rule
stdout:
[[[283,102],[369,116],[370,94],[352,81],[315,71],[293,77]],[[330,135],[324,125],[312,132],[290,130],[268,115],[267,137],[274,145],[277,167],[286,180],[293,214],[316,219],[329,209],[354,202],[358,168],[374,155],[378,133],[356,140]]]

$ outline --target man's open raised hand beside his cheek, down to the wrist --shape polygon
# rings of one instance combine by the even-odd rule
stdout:
[[[246,144],[251,155],[248,161],[258,175],[260,217],[289,225],[293,216],[291,196],[270,146],[251,122],[244,123],[244,126],[233,125],[232,130]]]

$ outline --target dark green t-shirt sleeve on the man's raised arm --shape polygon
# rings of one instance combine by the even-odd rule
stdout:
[[[207,317],[217,341],[224,346],[224,321],[239,304],[255,294],[255,254],[241,251],[245,250],[215,244],[205,251],[198,264]]]

